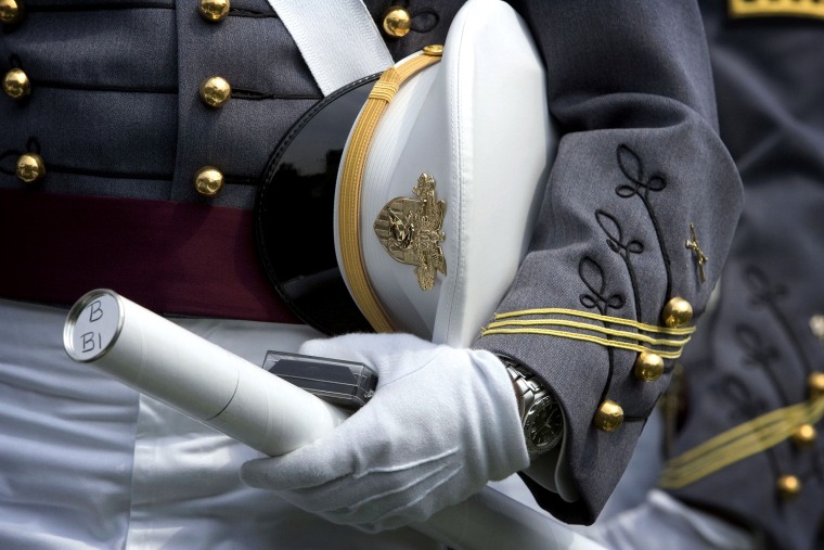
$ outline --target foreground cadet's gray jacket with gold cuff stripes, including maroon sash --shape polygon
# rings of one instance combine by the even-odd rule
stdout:
[[[365,3],[379,23],[390,2]],[[412,31],[387,37],[395,59],[442,43],[461,4],[401,3]],[[279,140],[321,93],[269,4],[234,0],[219,23],[173,0],[25,4],[0,35],[3,72],[30,82],[0,101],[0,296],[68,304],[110,286],[166,314],[295,322],[256,264],[252,208]],[[694,2],[514,4],[549,67],[562,139],[499,312],[541,324],[490,320],[476,345],[557,395],[571,485],[564,498],[533,488],[557,517],[590,523],[667,387],[685,306],[696,319],[719,277],[739,180]],[[235,90],[220,108],[198,93],[215,75]],[[46,176],[24,183],[15,163],[31,153]],[[193,187],[205,166],[226,177],[210,197]]]

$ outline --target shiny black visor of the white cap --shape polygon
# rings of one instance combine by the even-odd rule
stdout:
[[[379,75],[309,110],[275,149],[255,204],[255,239],[269,281],[289,309],[326,333],[373,332],[335,257],[337,170],[349,131]]]

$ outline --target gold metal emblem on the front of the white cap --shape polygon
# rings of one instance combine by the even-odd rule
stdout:
[[[440,242],[447,203],[435,194],[435,178],[422,174],[412,188],[417,199],[399,196],[381,208],[374,229],[377,240],[395,260],[415,266],[417,284],[423,291],[435,286],[438,271],[447,274],[447,259]]]

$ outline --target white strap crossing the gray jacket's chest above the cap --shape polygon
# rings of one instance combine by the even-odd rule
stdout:
[[[361,0],[269,0],[324,95],[394,63]]]

